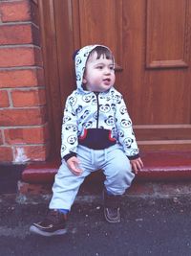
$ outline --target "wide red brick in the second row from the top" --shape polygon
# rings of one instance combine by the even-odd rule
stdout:
[[[39,44],[38,29],[33,24],[1,26],[0,45],[28,43]]]

